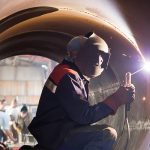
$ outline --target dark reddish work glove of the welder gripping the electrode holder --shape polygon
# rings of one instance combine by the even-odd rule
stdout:
[[[119,106],[130,104],[135,99],[135,87],[131,84],[128,87],[120,86],[119,89],[106,98],[103,103],[108,105],[115,113]]]

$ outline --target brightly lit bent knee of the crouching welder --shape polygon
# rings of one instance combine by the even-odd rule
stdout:
[[[107,127],[105,129],[103,129],[103,131],[104,131],[104,136],[106,138],[109,138],[114,141],[117,140],[117,131],[114,128]]]

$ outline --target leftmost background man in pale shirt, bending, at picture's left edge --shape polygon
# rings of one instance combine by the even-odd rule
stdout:
[[[16,142],[16,139],[13,138],[12,133],[9,130],[9,116],[5,112],[5,99],[0,99],[0,141],[4,142],[7,140],[7,137],[10,138],[13,142]]]

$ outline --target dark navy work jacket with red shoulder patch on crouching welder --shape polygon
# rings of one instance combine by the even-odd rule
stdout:
[[[42,148],[56,150],[74,128],[90,125],[112,113],[103,102],[89,104],[88,83],[74,63],[63,60],[54,68],[29,125]]]

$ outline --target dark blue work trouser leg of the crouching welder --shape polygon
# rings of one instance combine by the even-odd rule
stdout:
[[[117,140],[116,130],[107,125],[76,128],[58,150],[112,150]]]

